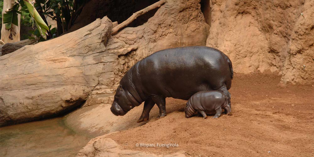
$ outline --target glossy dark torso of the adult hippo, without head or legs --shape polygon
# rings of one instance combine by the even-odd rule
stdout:
[[[132,67],[133,82],[145,95],[188,100],[194,93],[231,86],[229,58],[206,46],[157,51]]]

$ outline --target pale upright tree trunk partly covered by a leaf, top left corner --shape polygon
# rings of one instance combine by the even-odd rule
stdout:
[[[5,11],[7,11],[7,9],[10,9],[10,8],[13,7],[14,2],[15,2],[14,0],[4,0],[3,1],[2,17],[3,17],[3,14],[5,13]],[[12,29],[11,30],[6,30],[5,29],[5,24],[3,24],[3,18],[1,20],[2,20],[1,40],[4,43],[13,43],[13,42],[20,41],[21,14],[18,14],[19,26],[16,26],[16,25],[12,24]],[[11,35],[11,31],[12,31],[12,37],[10,39],[9,37]]]

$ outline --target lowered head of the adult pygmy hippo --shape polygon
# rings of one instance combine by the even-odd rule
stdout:
[[[121,85],[116,90],[115,99],[113,100],[112,106],[110,108],[111,112],[116,116],[123,116],[128,111],[134,108],[129,100],[130,93],[122,88]]]

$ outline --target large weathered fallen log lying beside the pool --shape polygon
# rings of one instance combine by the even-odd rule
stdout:
[[[107,17],[58,38],[0,57],[1,126],[55,116],[80,106],[117,55],[104,52]]]

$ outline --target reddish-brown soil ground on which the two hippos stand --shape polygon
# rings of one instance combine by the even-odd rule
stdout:
[[[186,101],[167,99],[168,115],[140,127],[108,134],[124,149],[187,156],[313,156],[313,86],[278,85],[280,76],[235,74],[233,116],[185,118]],[[156,107],[156,106],[155,106]],[[173,112],[169,112],[173,111]],[[178,147],[136,147],[178,143]]]

